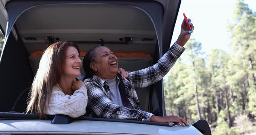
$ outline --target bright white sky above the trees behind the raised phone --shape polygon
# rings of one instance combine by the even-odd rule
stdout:
[[[244,0],[256,12],[256,0]],[[211,49],[221,48],[232,53],[227,24],[231,21],[236,0],[181,0],[171,45],[181,31],[183,13],[195,26],[191,38],[202,43],[202,51],[209,54]],[[186,48],[186,45],[184,46]]]

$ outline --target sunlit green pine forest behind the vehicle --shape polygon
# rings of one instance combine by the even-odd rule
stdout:
[[[167,115],[217,123],[214,135],[236,134],[230,127],[253,125],[256,116],[256,13],[237,0],[227,27],[232,54],[221,48],[204,54],[205,45],[190,39],[182,55],[186,62],[177,61],[164,80]]]

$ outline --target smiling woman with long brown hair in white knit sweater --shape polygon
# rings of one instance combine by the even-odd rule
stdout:
[[[27,113],[63,114],[73,118],[85,114],[87,90],[85,84],[73,79],[80,76],[82,61],[79,48],[72,42],[50,45],[39,63],[34,77]]]

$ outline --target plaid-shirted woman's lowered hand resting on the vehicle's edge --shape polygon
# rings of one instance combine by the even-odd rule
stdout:
[[[177,122],[180,123],[181,125],[185,124],[187,126],[188,123],[185,119],[178,117],[178,116],[151,116],[151,118],[149,119],[151,122]]]

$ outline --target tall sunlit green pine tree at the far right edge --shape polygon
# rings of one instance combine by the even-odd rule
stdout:
[[[237,0],[234,10],[233,23],[229,25],[232,34],[232,46],[237,51],[235,59],[231,63],[236,70],[232,72],[230,79],[232,84],[245,83],[241,90],[248,97],[249,111],[256,115],[256,14],[249,9],[243,0]],[[240,86],[241,87],[241,86]],[[246,105],[247,106],[247,105]]]

